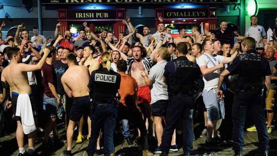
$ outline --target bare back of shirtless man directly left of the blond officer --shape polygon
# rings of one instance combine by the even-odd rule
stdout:
[[[70,97],[72,91],[73,97],[83,97],[89,94],[87,87],[89,73],[86,66],[71,65],[62,76],[62,83],[66,94]]]

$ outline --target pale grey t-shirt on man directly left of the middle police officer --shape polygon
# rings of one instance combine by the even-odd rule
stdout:
[[[153,104],[158,100],[168,100],[168,85],[162,80],[164,66],[167,61],[163,60],[152,66],[149,77],[153,81],[151,89],[151,103]]]

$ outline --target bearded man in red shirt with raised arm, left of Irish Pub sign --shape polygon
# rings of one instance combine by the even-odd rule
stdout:
[[[76,51],[76,48],[74,46],[74,43],[70,41],[71,39],[71,33],[70,31],[65,31],[64,32],[64,36],[62,35],[58,35],[58,32],[59,32],[59,28],[61,27],[61,23],[58,23],[56,25],[56,30],[55,30],[55,38],[57,38],[57,40],[59,41],[59,46],[62,46],[64,48],[69,48],[70,50],[72,51]],[[82,45],[81,45],[82,46]]]

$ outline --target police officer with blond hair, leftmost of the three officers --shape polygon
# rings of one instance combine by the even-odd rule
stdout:
[[[115,155],[114,131],[116,127],[117,107],[115,97],[120,87],[120,74],[110,70],[112,55],[102,54],[103,69],[91,73],[89,80],[91,102],[91,135],[86,148],[88,155],[94,155],[100,128],[104,127],[104,155]]]

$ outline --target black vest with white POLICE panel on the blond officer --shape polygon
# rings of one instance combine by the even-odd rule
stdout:
[[[112,70],[108,71],[104,68],[97,70],[92,79],[93,99],[101,102],[113,101],[118,92],[120,75]]]

